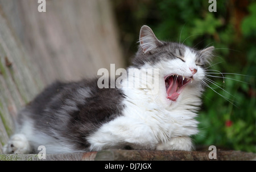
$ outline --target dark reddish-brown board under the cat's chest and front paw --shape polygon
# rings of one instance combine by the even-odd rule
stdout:
[[[209,161],[209,152],[204,151],[135,151],[107,150],[97,153],[95,160],[110,161]],[[256,160],[256,154],[241,151],[218,151],[221,161]],[[214,160],[214,159],[213,159]]]

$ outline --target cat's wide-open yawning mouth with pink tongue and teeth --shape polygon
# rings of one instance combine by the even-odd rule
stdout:
[[[171,74],[165,76],[164,81],[166,82],[167,98],[172,101],[176,101],[180,93],[185,88],[185,85],[187,85],[189,81],[192,82],[193,78],[186,78],[185,76]]]

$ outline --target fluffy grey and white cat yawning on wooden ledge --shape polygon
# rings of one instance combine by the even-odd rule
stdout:
[[[157,93],[151,93],[150,83],[146,88],[127,87],[129,77],[118,88],[99,88],[98,79],[56,81],[19,112],[16,132],[3,153],[36,153],[39,145],[46,147],[46,153],[192,151],[191,136],[199,132],[195,117],[204,91],[204,68],[213,50],[213,46],[196,50],[160,41],[143,25],[133,65],[127,69],[158,69],[158,75],[147,74],[158,82]],[[143,79],[129,75],[135,81]]]

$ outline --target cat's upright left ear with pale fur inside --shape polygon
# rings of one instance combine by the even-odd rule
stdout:
[[[156,38],[154,32],[147,25],[141,27],[141,32],[139,32],[139,45],[144,54],[148,51],[154,50],[163,43]]]

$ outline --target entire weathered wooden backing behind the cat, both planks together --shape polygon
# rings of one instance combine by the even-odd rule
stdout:
[[[0,153],[17,111],[54,80],[125,67],[108,0],[0,0]]]

